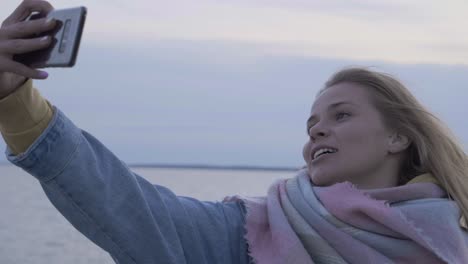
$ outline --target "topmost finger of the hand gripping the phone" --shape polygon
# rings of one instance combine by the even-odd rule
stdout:
[[[42,0],[24,0],[21,4],[8,16],[2,25],[12,25],[25,20],[32,12],[48,14],[54,7],[47,1]]]

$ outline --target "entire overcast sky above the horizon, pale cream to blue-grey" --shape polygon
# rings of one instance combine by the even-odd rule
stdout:
[[[52,4],[88,18],[77,65],[36,85],[129,163],[300,166],[315,93],[351,65],[400,78],[467,149],[467,1]]]

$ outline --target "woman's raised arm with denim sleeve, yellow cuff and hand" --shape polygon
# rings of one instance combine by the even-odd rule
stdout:
[[[11,36],[6,32],[41,6],[49,10],[44,1],[23,2],[0,35]],[[32,24],[22,27],[33,31]],[[241,204],[179,197],[133,173],[40,96],[28,79],[37,77],[35,69],[13,70],[10,55],[18,51],[8,53],[10,40],[0,39],[0,131],[7,158],[40,181],[75,228],[118,263],[248,263]]]

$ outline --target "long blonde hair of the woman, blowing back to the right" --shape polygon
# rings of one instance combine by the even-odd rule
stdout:
[[[411,144],[401,166],[399,184],[431,173],[468,217],[468,158],[453,133],[431,114],[411,92],[389,74],[364,68],[336,72],[319,92],[349,82],[370,88],[373,103],[384,122],[406,135]]]

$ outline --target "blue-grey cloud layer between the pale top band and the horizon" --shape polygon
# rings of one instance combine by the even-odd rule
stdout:
[[[36,84],[129,163],[300,166],[318,89],[344,66],[375,66],[399,77],[467,146],[468,67],[254,51],[211,41],[86,43],[73,69],[51,69]]]

